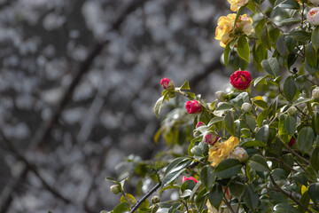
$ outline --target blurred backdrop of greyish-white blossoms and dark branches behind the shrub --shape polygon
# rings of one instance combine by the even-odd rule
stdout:
[[[208,101],[229,85],[214,40],[228,13],[225,0],[0,0],[0,212],[113,209],[105,177],[163,148],[160,79]]]

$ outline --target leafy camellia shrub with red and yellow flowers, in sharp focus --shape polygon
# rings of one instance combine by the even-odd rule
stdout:
[[[154,137],[162,135],[170,151],[153,164],[137,163],[141,178],[155,182],[141,201],[124,192],[125,179],[108,177],[122,193],[114,213],[319,212],[319,27],[312,9],[318,2],[229,2],[237,14],[218,20],[215,38],[225,66],[235,69],[234,88],[208,102],[187,81],[162,92],[158,116],[165,100],[189,99],[167,114]],[[242,14],[248,10],[250,17]],[[240,63],[231,61],[234,55]],[[249,71],[240,70],[247,63]],[[177,195],[150,204],[157,190]]]

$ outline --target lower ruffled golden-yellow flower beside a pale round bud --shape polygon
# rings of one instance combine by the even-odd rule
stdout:
[[[215,145],[209,149],[208,162],[212,162],[211,165],[213,167],[216,166],[218,163],[227,159],[238,144],[239,139],[234,136],[231,136],[223,143],[215,143]]]

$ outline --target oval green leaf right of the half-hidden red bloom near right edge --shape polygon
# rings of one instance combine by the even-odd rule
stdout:
[[[297,145],[302,153],[307,153],[309,148],[313,145],[315,140],[315,133],[310,127],[304,127],[300,130],[297,138]]]

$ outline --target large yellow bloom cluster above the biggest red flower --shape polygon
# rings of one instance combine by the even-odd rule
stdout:
[[[247,17],[246,14],[240,15],[236,27],[234,30],[234,23],[236,20],[236,13],[230,13],[227,16],[222,16],[217,22],[217,28],[215,31],[215,39],[220,40],[220,45],[225,47],[229,43],[237,32],[242,32],[249,36],[253,33],[253,20]]]

